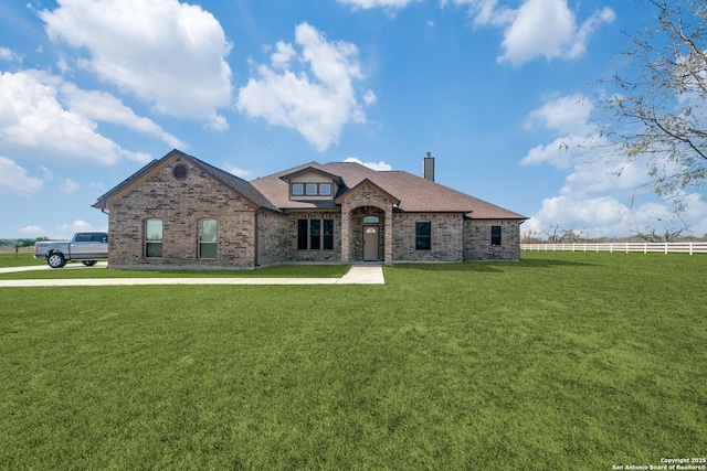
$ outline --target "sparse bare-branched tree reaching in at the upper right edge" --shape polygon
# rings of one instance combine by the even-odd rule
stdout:
[[[604,81],[603,135],[631,160],[647,159],[653,189],[684,211],[683,190],[707,176],[707,7],[703,0],[641,0],[653,24],[626,33],[621,71]]]

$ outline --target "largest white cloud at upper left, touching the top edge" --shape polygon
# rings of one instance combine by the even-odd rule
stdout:
[[[88,57],[98,77],[167,115],[223,128],[217,109],[231,104],[231,44],[217,19],[177,0],[60,0],[40,17],[54,41]]]

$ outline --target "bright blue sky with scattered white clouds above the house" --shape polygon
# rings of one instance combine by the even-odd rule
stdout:
[[[574,147],[603,139],[599,81],[648,21],[615,0],[3,1],[0,238],[107,228],[91,205],[173,148],[246,180],[420,174],[430,151],[439,183],[524,231],[659,227],[645,165]]]

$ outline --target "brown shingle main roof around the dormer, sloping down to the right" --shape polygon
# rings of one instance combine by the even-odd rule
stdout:
[[[425,180],[403,171],[376,171],[355,162],[333,162],[320,164],[317,162],[288,169],[272,175],[251,181],[265,197],[275,206],[283,210],[325,210],[338,208],[329,201],[291,201],[287,182],[282,176],[313,168],[334,175],[341,176],[346,188],[338,196],[355,188],[365,179],[370,180],[390,195],[400,201],[399,211],[404,212],[453,212],[466,213],[472,218],[510,218],[525,220],[525,216],[496,206],[447,186]]]

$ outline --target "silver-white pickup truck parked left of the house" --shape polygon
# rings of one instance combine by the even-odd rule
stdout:
[[[48,240],[34,244],[34,258],[44,258],[52,268],[62,268],[66,261],[96,265],[108,258],[108,234],[81,232],[71,240]]]

